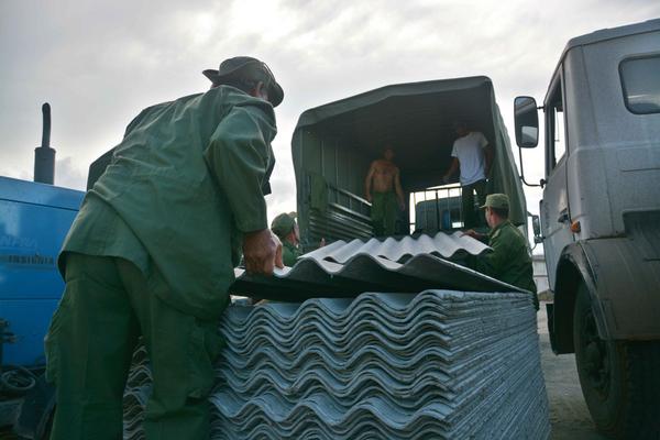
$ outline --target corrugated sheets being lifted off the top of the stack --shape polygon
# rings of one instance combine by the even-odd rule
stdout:
[[[234,295],[280,301],[316,297],[355,297],[363,292],[418,293],[443,288],[463,292],[521,292],[447,257],[479,255],[491,249],[457,232],[435,237],[337,241],[302,255],[275,276],[235,270]]]

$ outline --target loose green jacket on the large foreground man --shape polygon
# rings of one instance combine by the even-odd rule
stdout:
[[[121,256],[160,271],[164,301],[218,318],[242,234],[268,227],[262,188],[275,133],[272,106],[228,86],[143,110],[89,190],[63,254]],[[61,271],[65,264],[61,257]]]

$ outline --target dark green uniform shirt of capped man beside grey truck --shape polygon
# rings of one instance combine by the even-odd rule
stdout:
[[[501,282],[531,292],[535,307],[538,310],[534,268],[525,235],[507,220],[493,228],[488,234],[488,245],[493,252],[477,255],[475,270]]]

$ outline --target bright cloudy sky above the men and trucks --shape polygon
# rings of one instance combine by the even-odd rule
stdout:
[[[82,189],[89,163],[142,108],[202,91],[202,69],[253,55],[285,89],[270,211],[294,210],[290,139],[306,109],[486,75],[510,129],[514,97],[542,100],[570,37],[659,16],[658,0],[0,0],[0,175],[32,178],[47,101],[56,184]],[[525,153],[536,182],[540,150]],[[530,211],[538,199],[528,193]]]

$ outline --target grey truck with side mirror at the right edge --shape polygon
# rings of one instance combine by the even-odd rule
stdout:
[[[575,37],[543,105],[514,102],[520,148],[537,146],[542,110],[552,350],[575,353],[591,416],[616,438],[660,433],[659,51],[660,20]]]

